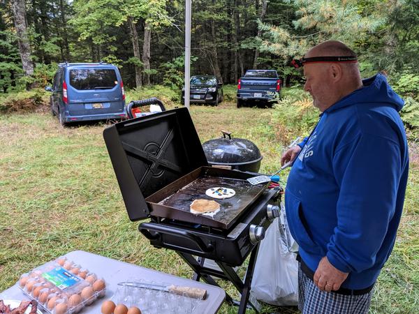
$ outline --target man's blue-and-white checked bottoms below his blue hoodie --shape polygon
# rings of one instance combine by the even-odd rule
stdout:
[[[345,295],[321,291],[298,267],[298,309],[302,314],[365,314],[373,292]]]

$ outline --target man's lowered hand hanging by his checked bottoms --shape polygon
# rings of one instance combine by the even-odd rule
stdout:
[[[339,271],[330,264],[328,257],[323,257],[314,273],[314,284],[322,291],[339,290],[341,284],[348,277],[348,273]]]

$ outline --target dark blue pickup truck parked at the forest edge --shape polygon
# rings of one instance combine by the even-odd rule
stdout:
[[[247,70],[237,84],[237,108],[251,100],[272,107],[272,100],[281,92],[276,70]]]

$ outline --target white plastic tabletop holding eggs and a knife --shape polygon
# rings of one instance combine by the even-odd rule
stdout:
[[[89,269],[89,271],[96,273],[98,277],[102,277],[106,281],[106,294],[102,300],[110,299],[110,297],[112,297],[117,289],[117,283],[132,281],[133,278],[137,280],[143,279],[146,281],[171,283],[172,285],[198,287],[207,290],[207,298],[205,300],[200,300],[198,306],[196,306],[193,311],[193,313],[196,314],[212,314],[218,312],[221,304],[223,304],[223,301],[226,298],[226,292],[214,285],[207,285],[206,283],[200,283],[191,279],[172,276],[160,271],[154,271],[126,262],[112,260],[111,258],[103,257],[101,255],[84,251],[73,251],[66,254],[66,257],[68,260],[72,260]],[[0,293],[0,299],[23,300],[28,298],[17,285],[13,285],[13,287]],[[101,304],[102,301],[97,300],[94,304],[91,304],[91,306],[84,308],[80,314],[101,313]]]

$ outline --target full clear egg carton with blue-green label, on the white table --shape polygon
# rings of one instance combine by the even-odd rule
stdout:
[[[22,274],[17,286],[47,314],[78,313],[106,293],[103,278],[66,257]]]

